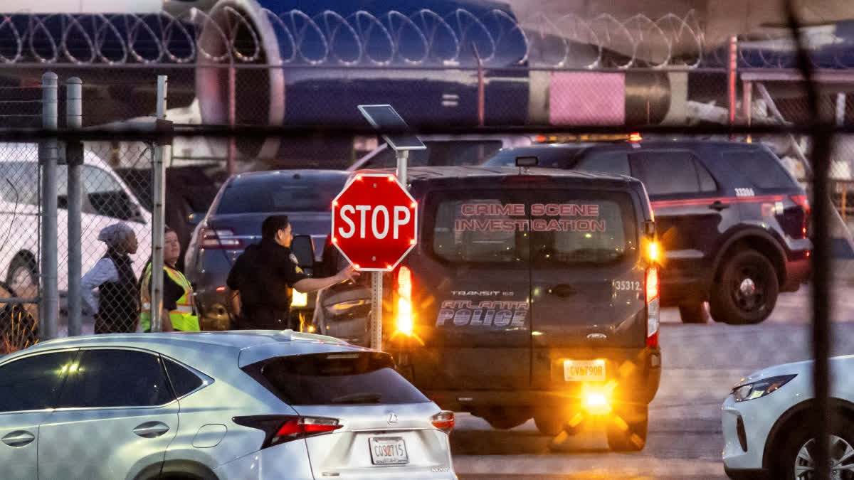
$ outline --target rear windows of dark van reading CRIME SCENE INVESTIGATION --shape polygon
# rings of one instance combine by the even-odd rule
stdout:
[[[625,192],[469,190],[436,194],[427,208],[428,244],[451,263],[605,264],[636,250]]]

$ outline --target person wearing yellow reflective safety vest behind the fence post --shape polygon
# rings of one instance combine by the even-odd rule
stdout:
[[[199,331],[199,319],[193,301],[193,289],[184,273],[175,268],[181,245],[178,234],[166,229],[163,243],[163,308],[161,310],[162,331]],[[143,331],[151,331],[151,261],[145,266],[140,282],[139,300],[142,311],[139,325]]]

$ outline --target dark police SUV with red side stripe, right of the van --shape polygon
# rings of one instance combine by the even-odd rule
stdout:
[[[768,318],[781,291],[809,277],[810,203],[781,161],[757,143],[640,141],[502,149],[488,166],[535,156],[541,167],[643,181],[664,249],[662,307],[685,323]]]

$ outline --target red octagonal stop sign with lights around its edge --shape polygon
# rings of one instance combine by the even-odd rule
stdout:
[[[417,213],[395,175],[358,174],[332,201],[332,243],[357,270],[391,270],[415,246]]]

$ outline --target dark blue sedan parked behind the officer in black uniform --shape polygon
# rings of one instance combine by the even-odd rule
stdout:
[[[295,236],[309,235],[323,245],[332,200],[348,177],[343,170],[276,170],[232,176],[222,185],[184,255],[202,330],[231,327],[225,279],[243,249],[260,242],[261,222],[272,214],[286,214]],[[315,298],[295,291],[292,313],[310,321]]]

